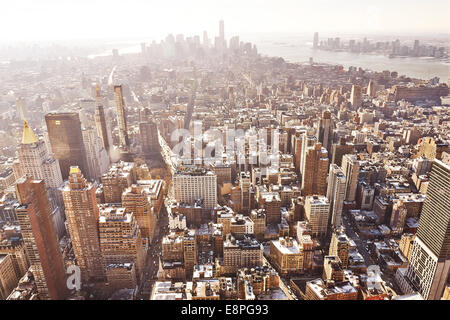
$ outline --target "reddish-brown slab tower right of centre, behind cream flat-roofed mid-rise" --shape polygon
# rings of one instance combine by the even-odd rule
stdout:
[[[328,165],[328,152],[321,143],[307,148],[302,175],[303,195],[326,194]]]

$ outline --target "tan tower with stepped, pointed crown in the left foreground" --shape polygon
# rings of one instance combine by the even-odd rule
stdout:
[[[100,252],[95,187],[86,181],[80,168],[73,166],[62,193],[69,234],[82,281],[103,281],[105,265]]]

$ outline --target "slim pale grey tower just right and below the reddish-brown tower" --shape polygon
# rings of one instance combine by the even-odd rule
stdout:
[[[327,198],[330,201],[330,225],[342,224],[342,208],[345,200],[345,175],[336,164],[330,165]]]

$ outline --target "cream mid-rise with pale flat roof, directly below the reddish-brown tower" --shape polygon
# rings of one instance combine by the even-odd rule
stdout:
[[[305,216],[311,225],[311,235],[322,238],[327,235],[330,202],[324,196],[308,196],[305,201]]]

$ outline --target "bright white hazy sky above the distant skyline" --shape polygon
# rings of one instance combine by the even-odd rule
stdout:
[[[168,33],[450,33],[449,0],[3,0],[0,41]]]

